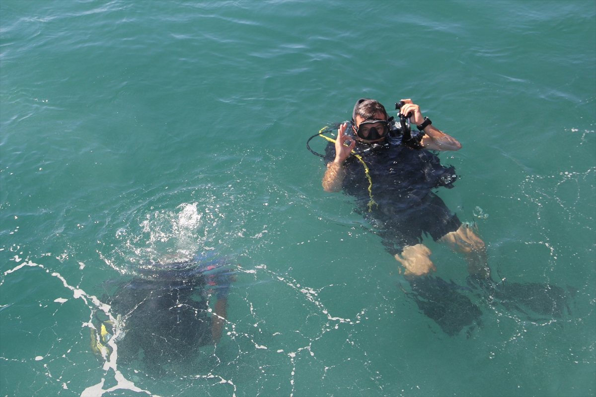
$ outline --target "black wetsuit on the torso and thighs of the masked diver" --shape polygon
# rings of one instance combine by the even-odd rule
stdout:
[[[432,190],[452,187],[457,179],[454,167],[440,164],[439,158],[425,149],[414,149],[399,132],[392,131],[381,145],[356,141],[355,152],[362,161],[350,156],[344,162],[346,176],[342,189],[356,199],[357,210],[383,238],[383,245],[395,255],[406,245],[422,241],[423,233],[440,239],[461,226],[457,215]],[[371,149],[368,152],[367,149]],[[325,148],[325,163],[334,160],[335,144]],[[370,186],[370,192],[369,192]]]

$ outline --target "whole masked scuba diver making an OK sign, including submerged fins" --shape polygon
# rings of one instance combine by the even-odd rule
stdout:
[[[333,130],[328,127],[309,139],[322,136],[330,141],[325,155],[313,152],[307,142],[307,148],[324,157],[327,165],[323,189],[343,190],[355,198],[356,211],[373,226],[386,250],[403,267],[412,288],[411,293],[406,293],[449,335],[457,334],[464,326],[480,324],[482,311],[460,292],[472,288],[483,289],[492,304],[522,310],[510,301],[517,296],[518,303],[526,302],[525,307],[530,306],[539,314],[560,317],[566,303],[565,293],[559,287],[513,283],[508,284],[505,293],[503,285],[493,282],[485,243],[433,192],[441,186],[451,189],[457,174],[454,167],[440,164],[437,155],[430,151],[457,151],[461,144],[434,127],[411,99],[402,99],[395,105],[399,120],[389,117],[380,102],[358,99],[352,119],[336,125],[336,139],[323,135]],[[415,124],[416,132],[410,123]],[[436,266],[429,258],[430,249],[423,243],[424,234],[464,255],[470,287],[430,276]],[[530,290],[546,292],[541,299],[533,299],[527,294]],[[535,304],[538,300],[541,305]]]

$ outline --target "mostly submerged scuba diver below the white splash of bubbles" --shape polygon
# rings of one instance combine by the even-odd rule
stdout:
[[[148,373],[192,365],[201,346],[215,345],[221,337],[226,296],[234,280],[231,264],[195,255],[167,264],[148,262],[138,273],[103,299],[117,321],[114,324],[96,312],[92,350],[105,360],[111,354],[107,342],[114,337],[118,361],[142,361]]]

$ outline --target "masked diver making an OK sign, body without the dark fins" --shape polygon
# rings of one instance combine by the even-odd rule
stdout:
[[[452,187],[457,176],[429,150],[455,151],[461,148],[460,142],[436,129],[411,99],[401,103],[401,114],[410,114],[418,134],[391,120],[379,102],[367,98],[356,102],[350,126],[343,123],[336,142],[325,149],[323,188],[327,192],[343,189],[356,197],[365,218],[378,227],[387,251],[405,268],[406,277],[436,270],[430,249],[421,242],[423,233],[464,254],[470,274],[490,277],[484,242],[432,192],[439,186]],[[346,129],[353,133],[346,134]],[[352,151],[367,150],[374,152],[352,156]]]

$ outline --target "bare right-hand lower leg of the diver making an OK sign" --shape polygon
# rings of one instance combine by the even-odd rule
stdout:
[[[455,232],[447,233],[440,239],[455,252],[465,255],[468,272],[483,279],[491,278],[491,268],[488,267],[485,243],[467,225],[462,224]]]

